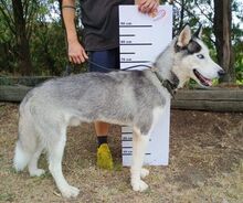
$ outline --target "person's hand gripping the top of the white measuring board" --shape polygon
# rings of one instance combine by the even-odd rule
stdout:
[[[138,2],[138,10],[149,15],[156,15],[158,12],[159,2],[157,0],[140,0]]]

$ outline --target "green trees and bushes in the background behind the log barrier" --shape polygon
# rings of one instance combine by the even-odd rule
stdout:
[[[0,0],[0,76],[63,74],[68,61],[60,7],[61,0]],[[212,56],[228,72],[223,81],[243,84],[243,2],[175,0],[173,11],[173,34],[184,23],[203,24]]]

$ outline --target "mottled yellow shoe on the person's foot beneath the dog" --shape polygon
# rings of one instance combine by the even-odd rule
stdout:
[[[113,170],[113,157],[107,143],[103,143],[97,149],[97,167],[101,169]]]

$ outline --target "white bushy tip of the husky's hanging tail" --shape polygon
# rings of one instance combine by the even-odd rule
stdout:
[[[23,146],[21,145],[21,141],[18,140],[15,146],[15,153],[13,158],[14,169],[17,171],[22,171],[30,162],[31,157],[32,153],[28,150],[24,150]]]

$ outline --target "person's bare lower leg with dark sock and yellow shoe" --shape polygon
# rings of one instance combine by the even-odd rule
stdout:
[[[109,124],[96,121],[95,131],[98,140],[97,149],[97,165],[102,169],[113,169],[113,158],[107,145],[107,135],[109,130]]]

